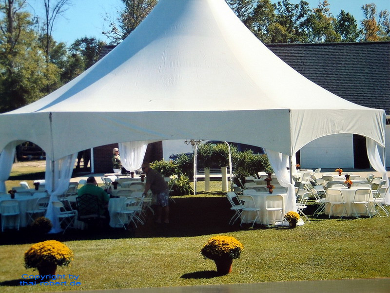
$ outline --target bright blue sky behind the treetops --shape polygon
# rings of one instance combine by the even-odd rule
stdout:
[[[290,0],[298,3],[300,0]],[[318,5],[318,0],[306,0],[311,8]],[[37,15],[42,15],[42,1],[29,0]],[[277,2],[277,0],[273,0]],[[351,13],[360,24],[363,19],[361,7],[367,3],[375,3],[377,10],[390,11],[390,0],[328,0],[331,13],[336,16],[341,9]],[[109,30],[108,22],[104,21],[106,14],[112,18],[116,16],[117,9],[121,9],[121,0],[72,0],[72,6],[64,13],[65,18],[59,17],[55,23],[53,37],[57,42],[66,42],[70,45],[78,38],[95,37],[105,42],[109,40],[101,34]]]

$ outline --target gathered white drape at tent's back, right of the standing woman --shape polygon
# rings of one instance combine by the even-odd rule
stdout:
[[[126,170],[134,172],[142,165],[145,157],[148,141],[119,143],[119,154],[122,166]]]

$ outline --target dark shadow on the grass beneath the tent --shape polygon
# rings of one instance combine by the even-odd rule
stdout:
[[[255,224],[229,225],[234,212],[225,196],[175,197],[176,203],[170,203],[170,224],[156,225],[151,212],[147,214],[145,225],[136,229],[124,230],[110,228],[107,230],[68,229],[65,234],[35,235],[28,227],[17,230],[6,230],[1,233],[0,245],[36,243],[45,240],[74,241],[122,238],[154,237],[193,237],[210,234],[222,234],[239,230],[267,229]]]

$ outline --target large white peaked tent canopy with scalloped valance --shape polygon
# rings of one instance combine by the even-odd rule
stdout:
[[[54,162],[110,143],[202,138],[262,146],[284,173],[286,157],[312,140],[355,133],[384,168],[384,123],[383,110],[339,98],[282,62],[224,0],[160,0],[83,74],[1,114],[0,149],[31,141]]]

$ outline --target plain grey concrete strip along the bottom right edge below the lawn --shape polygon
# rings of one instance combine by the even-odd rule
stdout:
[[[68,291],[80,292],[80,291]],[[389,293],[390,278],[83,290],[83,293]]]

